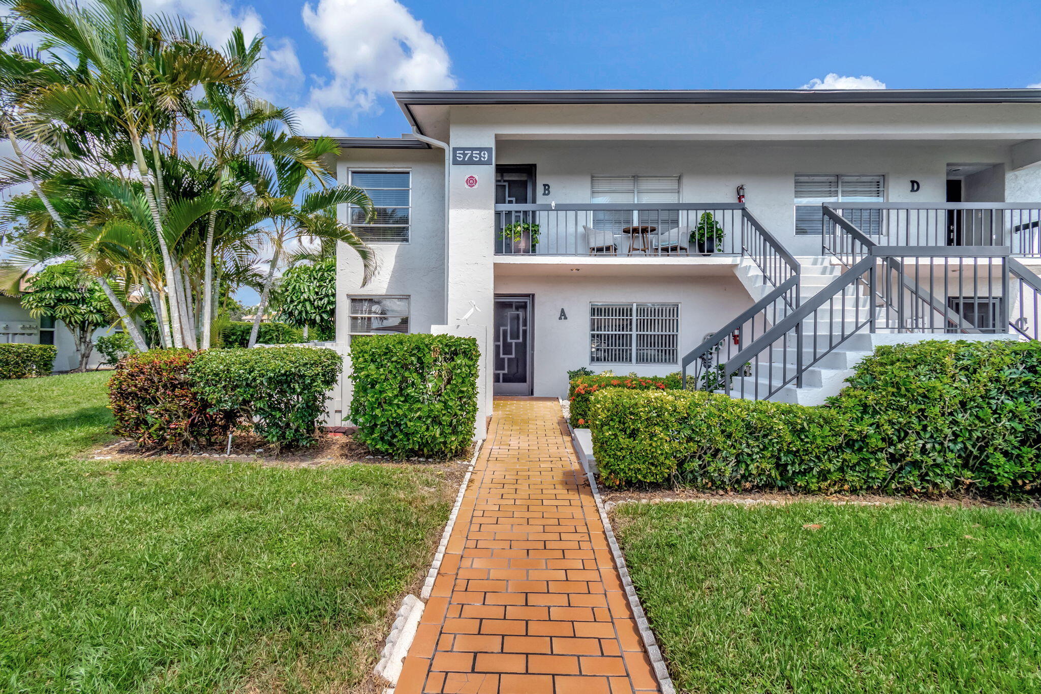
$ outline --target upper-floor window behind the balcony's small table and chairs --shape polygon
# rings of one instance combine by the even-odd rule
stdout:
[[[593,203],[625,205],[675,204],[680,202],[679,176],[593,176]],[[592,226],[601,231],[618,232],[633,225],[651,224],[661,229],[680,226],[679,210],[594,210]]]

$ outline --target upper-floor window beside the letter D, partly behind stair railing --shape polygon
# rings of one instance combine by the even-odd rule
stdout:
[[[795,176],[795,233],[819,234],[821,203],[881,203],[883,176]],[[865,234],[882,231],[882,210],[850,210],[843,214]]]

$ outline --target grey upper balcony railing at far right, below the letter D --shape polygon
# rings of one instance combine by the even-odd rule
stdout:
[[[834,203],[824,207],[879,246],[1008,246],[1013,255],[1041,257],[1041,203]]]

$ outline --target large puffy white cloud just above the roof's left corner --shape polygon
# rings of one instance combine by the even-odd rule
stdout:
[[[319,0],[304,5],[304,24],[325,47],[332,79],[311,91],[311,106],[376,106],[393,89],[451,89],[452,60],[397,0]]]

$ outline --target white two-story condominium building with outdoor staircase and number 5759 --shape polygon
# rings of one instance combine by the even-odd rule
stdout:
[[[580,367],[804,402],[865,335],[1036,336],[1041,89],[395,96],[411,134],[340,140],[379,269],[341,249],[337,342],[473,335],[482,414]]]

